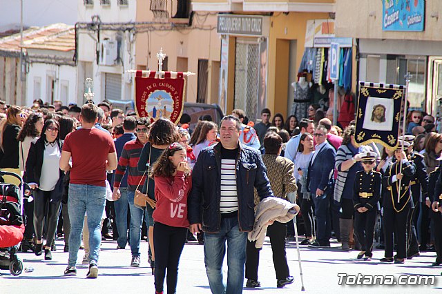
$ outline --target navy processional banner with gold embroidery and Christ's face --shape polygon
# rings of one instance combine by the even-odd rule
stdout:
[[[356,133],[358,145],[398,146],[405,86],[359,82]]]

